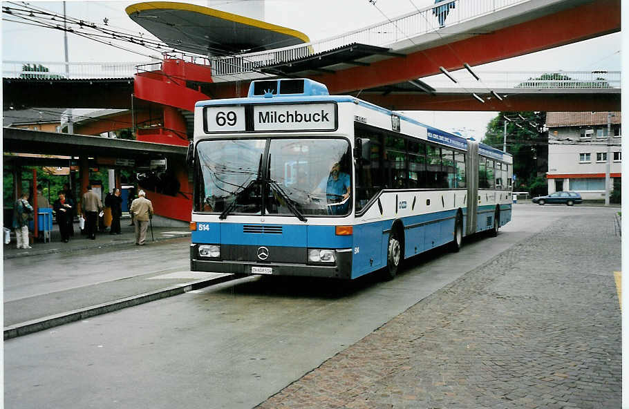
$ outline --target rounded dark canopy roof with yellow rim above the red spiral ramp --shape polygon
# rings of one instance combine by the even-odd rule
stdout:
[[[229,55],[310,41],[303,32],[194,4],[149,1],[125,11],[161,41],[189,53]]]

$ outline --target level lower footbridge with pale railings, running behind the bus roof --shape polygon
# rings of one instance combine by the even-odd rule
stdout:
[[[15,68],[24,64],[46,63],[5,62],[4,75],[24,75]],[[62,63],[47,64],[64,70]],[[73,70],[78,67],[84,69],[83,76],[105,75],[99,70],[102,64],[98,63],[93,63],[90,69],[86,69],[86,64],[71,64],[71,67]],[[479,71],[476,74],[480,81],[473,79],[466,70],[459,70],[451,73],[456,77],[457,84],[449,79],[427,77],[350,94],[380,106],[406,111],[620,111],[619,71]],[[3,108],[30,107],[35,104],[33,95],[37,95],[36,103],[42,108],[133,108],[136,112],[148,112],[151,109],[157,112],[160,108],[159,104],[132,97],[133,77],[46,79],[44,75],[50,73],[42,74],[43,78],[5,76]],[[129,75],[129,70],[121,70],[120,75]],[[532,80],[544,76],[547,79]],[[202,87],[208,93],[211,88],[211,84]],[[503,99],[498,99],[494,93]],[[485,103],[474,99],[473,94],[481,97]]]

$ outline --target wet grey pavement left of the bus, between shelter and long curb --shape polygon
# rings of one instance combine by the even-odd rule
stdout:
[[[122,220],[121,234],[108,229],[90,240],[75,225],[75,235],[62,242],[57,225],[50,241],[35,238],[31,249],[17,249],[15,234],[3,247],[4,339],[45,330],[90,316],[104,314],[174,296],[231,279],[229,274],[189,272],[187,249],[190,231],[181,227],[153,227],[143,246],[135,246],[135,228]],[[128,268],[125,259],[137,259],[142,250],[178,243],[183,268],[143,271]],[[165,250],[164,250],[165,251]],[[112,258],[111,273],[83,274],[99,254]],[[47,267],[48,266],[48,267]],[[97,266],[98,267],[98,266]],[[102,268],[102,267],[101,267]],[[46,271],[48,269],[48,271]],[[113,274],[113,275],[112,275]]]

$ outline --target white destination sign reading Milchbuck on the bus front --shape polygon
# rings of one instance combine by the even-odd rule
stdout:
[[[334,131],[335,104],[281,104],[254,106],[255,131]]]

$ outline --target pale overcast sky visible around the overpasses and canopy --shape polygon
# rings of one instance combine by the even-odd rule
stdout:
[[[143,33],[147,38],[154,38],[124,12],[126,6],[140,2],[67,1],[66,15],[93,23],[103,23],[104,19],[107,19],[111,28],[135,34]],[[186,3],[230,12],[236,12],[238,8],[242,10],[243,6],[251,10],[259,9],[259,0],[202,0],[186,1]],[[264,10],[265,21],[268,23],[301,31],[308,35],[311,41],[317,41],[380,23],[415,11],[417,8],[431,6],[433,3],[433,0],[377,0],[374,5],[369,0],[266,0]],[[59,1],[29,2],[29,4],[59,12],[59,14],[63,12],[62,2]],[[18,6],[19,3],[4,2],[3,6],[6,5]],[[259,15],[250,17],[255,18]],[[11,18],[3,14],[1,30],[3,61],[64,61],[62,31],[8,21]],[[132,48],[132,46],[125,45],[127,48]],[[142,55],[68,34],[70,61],[140,62],[147,61],[148,55],[156,55],[145,48],[135,48],[135,50]],[[476,66],[474,70],[620,70],[620,51],[621,34],[615,33],[539,53]],[[426,79],[426,82],[429,82],[429,79]],[[447,131],[463,129],[465,136],[473,136],[477,139],[482,137],[487,122],[496,114],[493,112],[406,112],[406,115],[415,117],[421,122]]]

